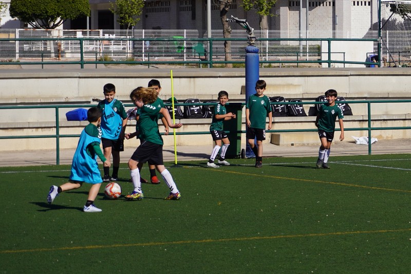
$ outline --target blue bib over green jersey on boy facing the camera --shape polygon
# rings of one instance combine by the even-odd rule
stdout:
[[[123,125],[123,119],[127,118],[127,112],[121,101],[113,99],[110,103],[106,100],[99,102],[101,109],[101,131],[102,138],[117,140]]]

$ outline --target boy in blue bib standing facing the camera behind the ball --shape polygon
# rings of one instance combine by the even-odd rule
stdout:
[[[124,151],[124,131],[127,125],[127,113],[121,101],[115,99],[116,87],[105,84],[103,87],[105,99],[98,104],[101,109],[101,131],[104,157],[109,159],[113,155],[113,173],[110,176],[110,167],[104,165],[103,181],[117,181],[120,167],[120,151]]]

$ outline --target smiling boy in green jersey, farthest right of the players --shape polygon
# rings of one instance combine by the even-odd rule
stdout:
[[[328,89],[325,92],[325,97],[328,103],[321,105],[320,112],[315,119],[315,126],[318,127],[318,135],[320,136],[321,141],[319,156],[316,163],[316,166],[319,169],[330,168],[327,165],[327,162],[328,157],[330,156],[331,142],[334,139],[335,118],[337,118],[337,116],[341,129],[340,141],[344,140],[344,115],[341,108],[335,104],[335,99],[337,99],[337,91],[334,89]]]

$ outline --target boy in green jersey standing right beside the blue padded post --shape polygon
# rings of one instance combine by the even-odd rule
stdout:
[[[263,167],[263,141],[266,139],[266,117],[268,114],[268,130],[272,126],[272,112],[270,99],[264,95],[267,83],[264,80],[258,80],[255,83],[256,93],[248,98],[246,104],[246,138],[250,148],[255,154],[255,167]],[[257,145],[254,139],[257,138]]]

